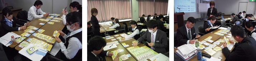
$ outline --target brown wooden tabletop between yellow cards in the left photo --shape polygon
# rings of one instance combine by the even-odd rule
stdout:
[[[58,18],[60,18],[60,17],[61,17],[61,16],[58,16]],[[46,19],[46,17],[44,17],[43,19]],[[53,21],[49,21],[49,22],[53,22]],[[44,25],[39,25],[39,23],[44,23]],[[30,24],[33,24],[33,25],[31,25],[31,26],[35,26],[35,27],[37,27],[37,28],[39,28],[39,29],[45,30],[45,31],[44,31],[43,33],[41,33],[41,34],[51,36],[52,38],[54,38],[54,36],[52,36],[52,35],[53,35],[53,32],[54,32],[55,30],[57,30],[57,31],[58,31],[58,30],[62,30],[63,27],[65,26],[65,25],[63,25],[63,21],[62,21],[62,20],[60,20],[60,22],[54,22],[54,24],[48,24],[46,21],[41,21],[41,20],[35,19],[35,20],[32,20]],[[39,27],[39,26],[41,26],[41,27]],[[39,30],[39,29],[38,29],[38,30]],[[38,33],[38,31],[35,31],[34,33]],[[18,35],[19,35],[19,34],[18,34]],[[50,44],[50,45],[53,45],[52,43],[47,42],[46,40],[43,40],[43,39],[39,39],[38,37],[35,37],[35,36],[33,36],[33,35],[30,35],[29,37],[27,37],[27,38],[26,38],[25,40],[23,40],[23,41],[27,41],[28,38],[35,38],[35,39],[44,41],[44,42],[46,42],[46,43],[48,43],[48,44]],[[22,41],[22,42],[23,42],[23,41]],[[28,41],[27,41],[27,42],[28,42]],[[21,42],[20,42],[20,43],[21,43]],[[18,51],[20,51],[22,48],[17,45],[17,46],[15,47],[15,49],[18,50]]]

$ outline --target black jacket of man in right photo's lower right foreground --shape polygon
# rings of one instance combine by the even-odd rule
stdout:
[[[224,47],[222,52],[227,61],[256,61],[256,41],[252,37],[246,36],[241,42],[234,45],[231,52],[227,47]]]

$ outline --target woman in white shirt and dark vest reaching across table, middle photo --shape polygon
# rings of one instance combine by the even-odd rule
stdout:
[[[141,37],[140,34],[139,34],[139,29],[138,29],[137,22],[132,20],[130,24],[131,24],[131,33],[132,34],[123,37],[121,40],[129,39],[129,38],[132,38],[132,37],[134,37],[135,40],[138,40],[139,37]]]

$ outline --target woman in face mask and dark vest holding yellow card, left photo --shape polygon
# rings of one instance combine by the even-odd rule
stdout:
[[[82,13],[71,12],[66,16],[67,29],[70,31],[67,35],[62,31],[58,31],[65,39],[61,41],[55,36],[56,42],[59,43],[61,52],[60,56],[65,61],[77,61],[82,57]]]

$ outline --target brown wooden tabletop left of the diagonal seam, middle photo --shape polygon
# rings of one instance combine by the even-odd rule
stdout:
[[[113,35],[112,36],[110,36],[110,37],[114,37]],[[106,40],[106,38],[104,38],[105,40]],[[115,37],[113,38],[113,39],[115,39]],[[117,41],[117,40],[114,40],[114,41]],[[108,43],[108,42],[113,42],[111,39],[108,39],[108,40],[106,40],[106,42]],[[109,52],[111,52],[111,51],[114,51],[114,50],[118,50],[118,49],[123,49],[124,51],[123,52],[119,52],[118,54],[117,54],[117,56],[122,56],[122,55],[127,55],[127,54],[130,54],[124,47],[123,47],[123,45],[122,44],[120,44],[120,42],[118,42],[118,45],[117,45],[117,47],[115,47],[115,48],[113,48],[113,49],[109,49],[109,50],[106,50],[106,51],[109,51]],[[132,55],[132,54],[131,54]],[[112,57],[111,56],[105,56],[105,58],[106,58],[106,61],[113,61],[113,59],[112,59]],[[129,57],[129,59],[127,59],[127,60],[124,60],[124,61],[136,61],[136,59],[133,57],[133,56],[131,56],[131,57]]]

